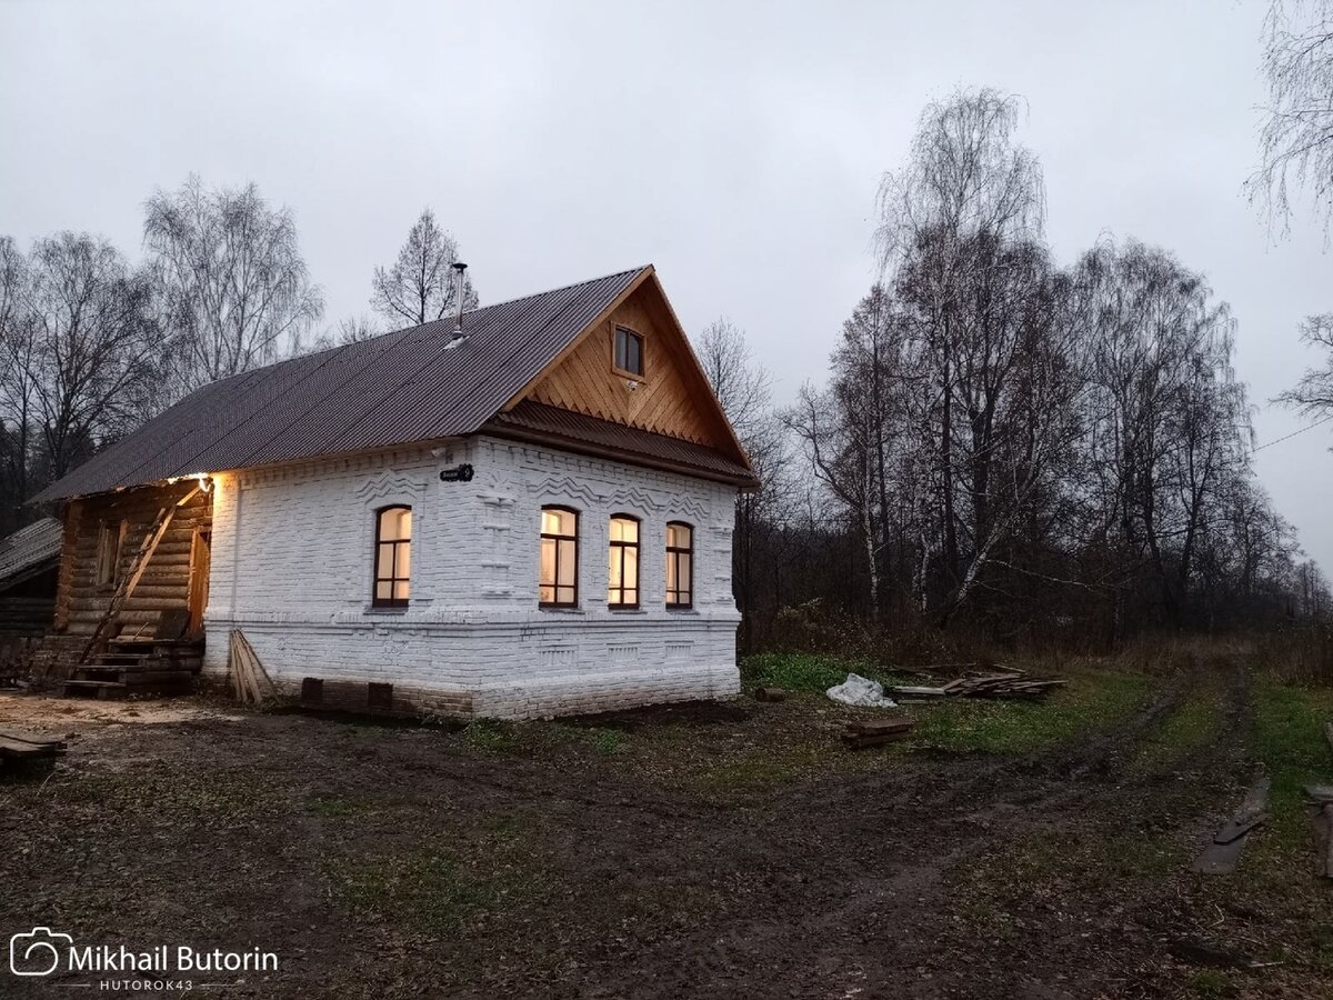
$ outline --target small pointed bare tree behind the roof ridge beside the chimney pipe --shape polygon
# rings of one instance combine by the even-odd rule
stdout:
[[[453,264],[459,244],[427,208],[408,232],[393,267],[376,268],[372,308],[391,323],[421,325],[443,319],[459,307]],[[471,279],[464,280],[463,308],[477,305]]]

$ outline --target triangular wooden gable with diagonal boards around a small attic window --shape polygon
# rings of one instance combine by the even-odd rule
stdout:
[[[615,367],[617,327],[643,337],[641,379]],[[507,409],[523,399],[693,441],[748,464],[652,271]]]

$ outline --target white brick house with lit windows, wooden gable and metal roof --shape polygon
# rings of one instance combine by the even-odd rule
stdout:
[[[177,600],[201,604],[216,677],[240,629],[281,687],[335,705],[369,685],[400,711],[508,719],[734,695],[732,524],[753,475],[652,268],[452,327],[261,369],[220,404],[229,428],[192,396],[48,495],[89,524],[103,495],[207,487],[207,597]],[[432,385],[475,399],[431,413]]]

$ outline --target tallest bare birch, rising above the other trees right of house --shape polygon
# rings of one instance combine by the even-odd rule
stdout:
[[[1045,187],[1036,157],[1013,139],[1021,112],[1017,99],[990,89],[928,105],[906,165],[880,188],[881,263],[910,311],[924,393],[917,427],[936,459],[938,532],[921,539],[938,539],[945,617],[1001,537],[996,420],[1016,359],[1044,336],[1033,311],[1049,283]]]

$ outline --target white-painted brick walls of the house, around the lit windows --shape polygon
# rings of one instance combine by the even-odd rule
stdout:
[[[441,483],[471,463],[472,483]],[[244,629],[265,669],[395,685],[420,711],[540,717],[736,693],[725,485],[477,437],[219,476],[205,669]],[[371,607],[375,512],[413,511],[412,600]],[[580,511],[573,611],[537,608],[540,509]],[[640,611],[607,607],[607,523],[641,519]],[[665,609],[665,525],[694,527],[694,607]]]

